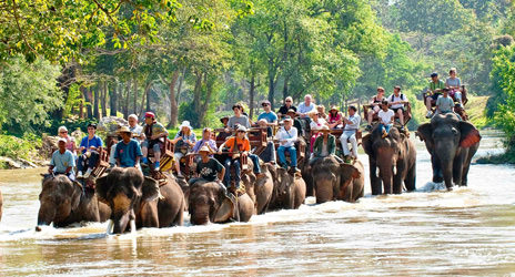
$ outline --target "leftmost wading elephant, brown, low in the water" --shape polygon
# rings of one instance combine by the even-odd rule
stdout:
[[[64,175],[46,175],[39,195],[38,227],[50,225],[65,227],[79,222],[105,222],[111,211],[99,199],[93,189]]]

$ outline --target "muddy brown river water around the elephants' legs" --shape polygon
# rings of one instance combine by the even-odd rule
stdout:
[[[309,198],[245,224],[186,220],[122,236],[99,223],[34,232],[41,170],[0,171],[0,275],[515,276],[515,168],[474,164],[468,187],[445,192],[428,183],[430,157],[416,145],[415,193],[372,197],[366,176],[356,204]],[[476,156],[499,151],[484,135]]]

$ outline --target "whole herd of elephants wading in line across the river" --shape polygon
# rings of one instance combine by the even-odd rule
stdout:
[[[481,141],[477,129],[447,113],[433,116],[415,134],[431,154],[433,182],[444,182],[450,191],[454,184],[466,186],[471,160]],[[415,189],[416,150],[408,136],[393,127],[383,138],[381,129],[375,127],[363,137],[373,195]],[[252,170],[242,172],[245,193],[236,199],[228,197],[218,182],[189,186],[172,174],[155,181],[137,168],[114,167],[94,181],[94,188],[88,189],[64,175],[57,175],[42,181],[37,229],[41,225],[64,227],[78,222],[110,219],[108,233],[120,234],[134,227],[182,225],[184,211],[194,225],[248,222],[254,214],[299,208],[306,195],[324,203],[355,202],[364,194],[365,170],[359,160],[344,164],[327,156],[313,164],[309,172],[301,166],[302,172],[294,174],[272,164],[263,164],[262,168],[265,177],[261,178]],[[0,193],[0,219],[1,206]]]

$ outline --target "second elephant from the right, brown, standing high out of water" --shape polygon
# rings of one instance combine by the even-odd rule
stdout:
[[[416,150],[406,134],[392,127],[383,138],[382,129],[377,125],[363,137],[362,144],[368,155],[372,195],[401,194],[403,182],[408,192],[415,191]]]

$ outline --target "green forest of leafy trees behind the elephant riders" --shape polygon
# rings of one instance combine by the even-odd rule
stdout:
[[[12,0],[0,22],[0,156],[108,115],[215,127],[240,101],[255,119],[263,100],[344,109],[394,85],[413,130],[450,68],[472,122],[515,142],[513,0]]]

